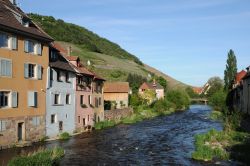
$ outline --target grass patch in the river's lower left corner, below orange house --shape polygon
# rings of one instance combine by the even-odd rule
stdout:
[[[15,157],[8,163],[8,166],[58,165],[63,156],[64,150],[62,148],[43,149],[27,156]]]

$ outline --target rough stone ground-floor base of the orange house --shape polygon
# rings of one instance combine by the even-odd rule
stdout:
[[[22,142],[37,142],[45,136],[44,116],[7,118],[0,119],[0,121],[3,130],[0,131],[0,149],[10,148],[16,144],[22,144]],[[21,141],[18,141],[19,123],[23,123]]]

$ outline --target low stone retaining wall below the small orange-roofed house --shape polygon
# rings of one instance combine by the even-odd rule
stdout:
[[[105,120],[120,120],[133,114],[132,108],[104,111]]]

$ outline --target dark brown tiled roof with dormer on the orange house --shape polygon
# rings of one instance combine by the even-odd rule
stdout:
[[[28,16],[19,8],[14,6],[9,0],[0,0],[0,29],[15,34],[32,37],[45,42],[53,41],[40,27],[30,20],[30,26],[25,27],[17,20],[17,15],[30,20]]]

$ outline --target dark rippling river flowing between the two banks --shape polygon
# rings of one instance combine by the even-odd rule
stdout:
[[[60,165],[214,165],[216,161],[191,159],[195,134],[222,129],[220,122],[208,118],[210,112],[208,106],[192,105],[185,112],[84,133],[68,141],[2,150],[0,165],[14,156],[54,146],[66,151]]]

